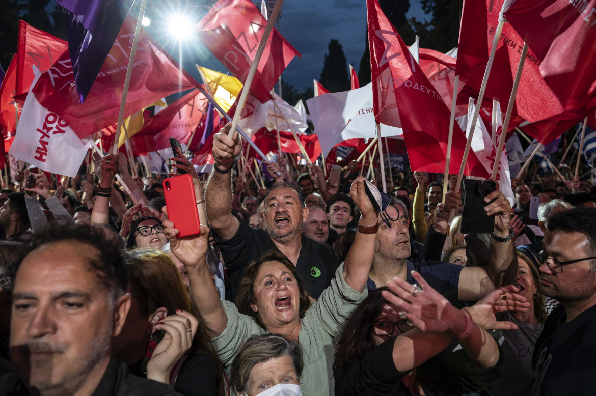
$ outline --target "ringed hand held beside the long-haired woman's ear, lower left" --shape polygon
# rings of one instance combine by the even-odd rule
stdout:
[[[190,349],[197,327],[197,318],[182,310],[153,325],[154,330],[163,330],[165,335],[147,363],[147,378],[169,383],[170,372]]]

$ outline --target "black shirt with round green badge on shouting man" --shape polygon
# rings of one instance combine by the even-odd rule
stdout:
[[[238,218],[240,226],[231,239],[227,241],[220,239],[215,230],[212,230],[212,233],[213,240],[219,245],[224,263],[231,272],[230,284],[232,301],[234,301],[244,269],[266,251],[279,252],[280,250],[275,247],[265,230],[250,228],[236,213],[232,212],[232,214]],[[302,248],[300,248],[296,270],[312,298],[317,300],[322,291],[330,285],[339,264],[339,257],[328,245],[302,235]]]

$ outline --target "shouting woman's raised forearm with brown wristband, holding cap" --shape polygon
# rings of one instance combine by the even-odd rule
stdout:
[[[364,189],[364,177],[359,176],[350,187],[350,197],[360,210],[362,217],[358,220],[359,226],[376,227],[378,230],[377,214],[373,204]],[[362,233],[360,230],[354,236],[354,242],[347,254],[343,267],[343,278],[350,287],[358,292],[364,290],[367,284],[368,273],[373,265],[375,238],[377,232]]]

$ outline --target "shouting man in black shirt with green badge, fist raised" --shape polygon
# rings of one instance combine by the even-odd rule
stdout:
[[[219,245],[226,266],[231,272],[232,300],[244,269],[268,250],[279,251],[295,266],[315,300],[331,283],[339,258],[327,245],[302,235],[302,223],[308,218],[304,198],[289,183],[276,183],[265,195],[265,229],[252,229],[231,212],[231,171],[242,144],[234,132],[228,137],[228,123],[213,138],[215,164],[205,191],[207,217],[213,239]]]

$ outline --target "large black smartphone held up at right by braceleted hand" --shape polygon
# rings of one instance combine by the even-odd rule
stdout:
[[[464,208],[461,211],[461,227],[463,234],[490,233],[495,228],[495,215],[488,216],[484,210],[486,195],[496,189],[496,183],[490,180],[462,181],[461,199],[464,201]]]

